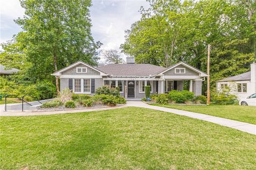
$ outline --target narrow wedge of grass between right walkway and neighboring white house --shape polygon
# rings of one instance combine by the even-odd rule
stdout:
[[[256,124],[256,107],[255,106],[232,106],[232,105],[210,105],[210,106],[188,106],[178,104],[153,104],[172,109],[193,111],[200,114],[212,115],[240,122]]]

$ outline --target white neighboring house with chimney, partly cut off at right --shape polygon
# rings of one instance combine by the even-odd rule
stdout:
[[[251,71],[227,77],[217,82],[217,91],[229,90],[239,100],[256,93],[256,63],[251,64]]]

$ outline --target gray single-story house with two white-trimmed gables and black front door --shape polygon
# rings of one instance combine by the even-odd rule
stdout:
[[[119,87],[125,98],[145,98],[145,86],[151,94],[183,90],[183,81],[190,80],[189,90],[202,94],[202,81],[207,74],[187,63],[179,62],[169,68],[153,64],[135,64],[127,58],[125,64],[107,64],[94,68],[78,61],[52,74],[60,78],[60,90],[69,88],[77,94],[94,94],[98,87]]]

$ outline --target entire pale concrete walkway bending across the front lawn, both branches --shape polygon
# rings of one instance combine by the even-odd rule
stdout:
[[[66,114],[66,113],[76,113],[76,112],[88,112],[88,111],[100,111],[100,110],[109,110],[109,109],[118,109],[124,107],[140,107],[147,109],[160,110],[165,112],[170,112],[177,115],[187,116],[191,118],[196,118],[200,120],[205,120],[207,122],[219,124],[222,126],[231,127],[238,129],[239,131],[247,132],[256,135],[256,125],[238,122],[236,120],[225,119],[221,117],[215,117],[205,114],[198,114],[196,112],[184,111],[178,109],[164,108],[158,106],[151,106],[141,101],[127,101],[126,105],[116,106],[116,107],[101,107],[101,108],[88,108],[88,109],[74,109],[74,110],[61,110],[61,111],[3,111],[1,109],[0,116],[32,116],[32,115],[53,115],[53,114]]]

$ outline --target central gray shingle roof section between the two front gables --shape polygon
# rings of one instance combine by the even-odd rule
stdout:
[[[153,76],[158,72],[166,70],[165,67],[153,64],[107,64],[97,69],[114,76]]]

